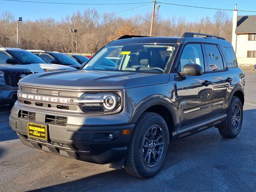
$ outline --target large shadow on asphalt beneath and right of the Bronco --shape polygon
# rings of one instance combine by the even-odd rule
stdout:
[[[244,176],[254,175],[254,163],[247,162],[248,172],[244,161],[246,155],[255,156],[247,150],[254,148],[255,141],[244,138],[254,130],[255,122],[248,119],[255,115],[256,109],[244,110],[242,130],[234,139],[222,138],[216,128],[210,128],[172,142],[164,168],[154,178],[142,180],[124,169],[112,170],[33,191],[253,191],[255,186]]]

